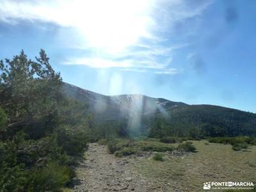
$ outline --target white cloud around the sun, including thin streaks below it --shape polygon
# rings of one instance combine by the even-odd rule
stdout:
[[[90,50],[88,56],[68,58],[65,64],[94,68],[168,69],[173,52],[189,42],[166,44],[176,22],[198,17],[211,1],[191,6],[182,0],[0,0],[0,21],[28,20],[60,27],[59,40],[72,49]],[[39,24],[38,24],[39,25]],[[67,33],[65,31],[68,31]]]

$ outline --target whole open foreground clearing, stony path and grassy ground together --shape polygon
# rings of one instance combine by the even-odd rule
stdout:
[[[127,157],[108,153],[106,145],[91,143],[86,160],[77,167],[72,191],[203,191],[204,182],[256,182],[256,147],[236,152],[231,145],[193,141],[196,153],[165,152],[165,161],[154,161],[154,152]],[[74,180],[76,181],[76,180]]]

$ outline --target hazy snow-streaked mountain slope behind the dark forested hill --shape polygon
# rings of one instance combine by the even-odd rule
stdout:
[[[173,102],[145,95],[106,96],[68,83],[63,84],[63,90],[68,97],[87,104],[91,112],[106,120],[118,120],[135,115],[153,115],[155,113],[164,113],[164,111],[172,108],[188,106],[183,102]]]

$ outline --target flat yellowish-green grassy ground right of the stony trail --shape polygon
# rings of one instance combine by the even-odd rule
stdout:
[[[196,153],[173,156],[163,162],[141,159],[132,168],[168,184],[170,191],[204,191],[204,182],[246,181],[256,185],[256,146],[237,152],[228,144],[205,143],[193,141]]]

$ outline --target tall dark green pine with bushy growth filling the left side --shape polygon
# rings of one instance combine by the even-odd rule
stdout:
[[[86,108],[63,95],[44,50],[0,61],[0,97],[1,191],[60,191],[91,134]]]

